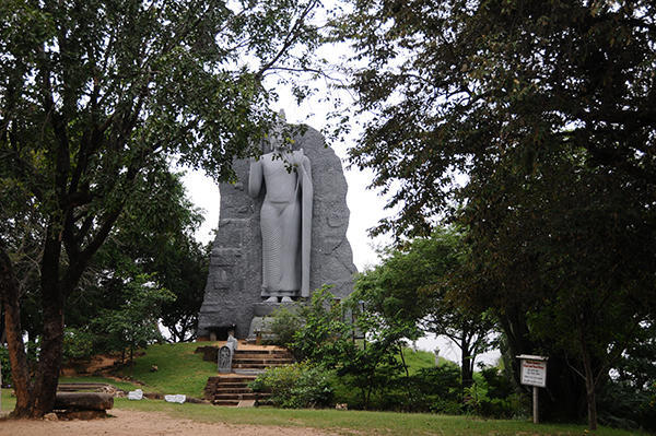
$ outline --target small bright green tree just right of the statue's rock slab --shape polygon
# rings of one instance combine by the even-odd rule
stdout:
[[[407,338],[434,333],[460,349],[466,387],[473,381],[477,356],[492,343],[495,322],[484,309],[477,311],[453,298],[459,294],[449,288],[464,284],[455,280],[468,256],[462,238],[455,229],[438,228],[430,237],[388,248],[380,264],[361,274],[355,287],[358,297],[370,302],[368,310],[380,314],[386,325],[408,325]]]

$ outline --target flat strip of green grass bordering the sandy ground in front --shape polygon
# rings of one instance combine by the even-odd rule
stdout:
[[[585,426],[538,424],[526,421],[482,420],[423,413],[393,413],[336,410],[232,409],[209,404],[171,404],[163,401],[116,399],[115,408],[164,412],[172,417],[227,424],[279,425],[332,428],[358,435],[586,435]],[[598,436],[642,435],[601,427]]]

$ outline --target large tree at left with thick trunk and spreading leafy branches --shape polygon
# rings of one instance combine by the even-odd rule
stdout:
[[[307,64],[317,43],[308,19],[317,5],[2,2],[0,222],[16,227],[0,235],[0,295],[15,415],[40,416],[52,408],[66,298],[134,186],[173,157],[232,179],[232,160],[257,153],[271,119],[265,76]],[[16,275],[24,254],[16,244],[27,237],[38,241],[44,320],[34,379]]]

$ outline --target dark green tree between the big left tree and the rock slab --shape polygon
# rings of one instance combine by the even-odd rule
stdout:
[[[176,296],[161,310],[171,340],[190,340],[208,269],[209,254],[194,238],[202,216],[186,197],[181,174],[167,166],[133,189],[131,202],[68,297],[67,327],[84,328],[103,310],[119,309],[125,280],[148,274],[156,287]]]

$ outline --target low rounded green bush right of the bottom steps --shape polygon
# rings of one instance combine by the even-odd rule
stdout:
[[[278,408],[318,408],[332,403],[330,378],[330,372],[320,366],[296,363],[267,369],[249,387],[256,392],[270,392],[266,402]]]

